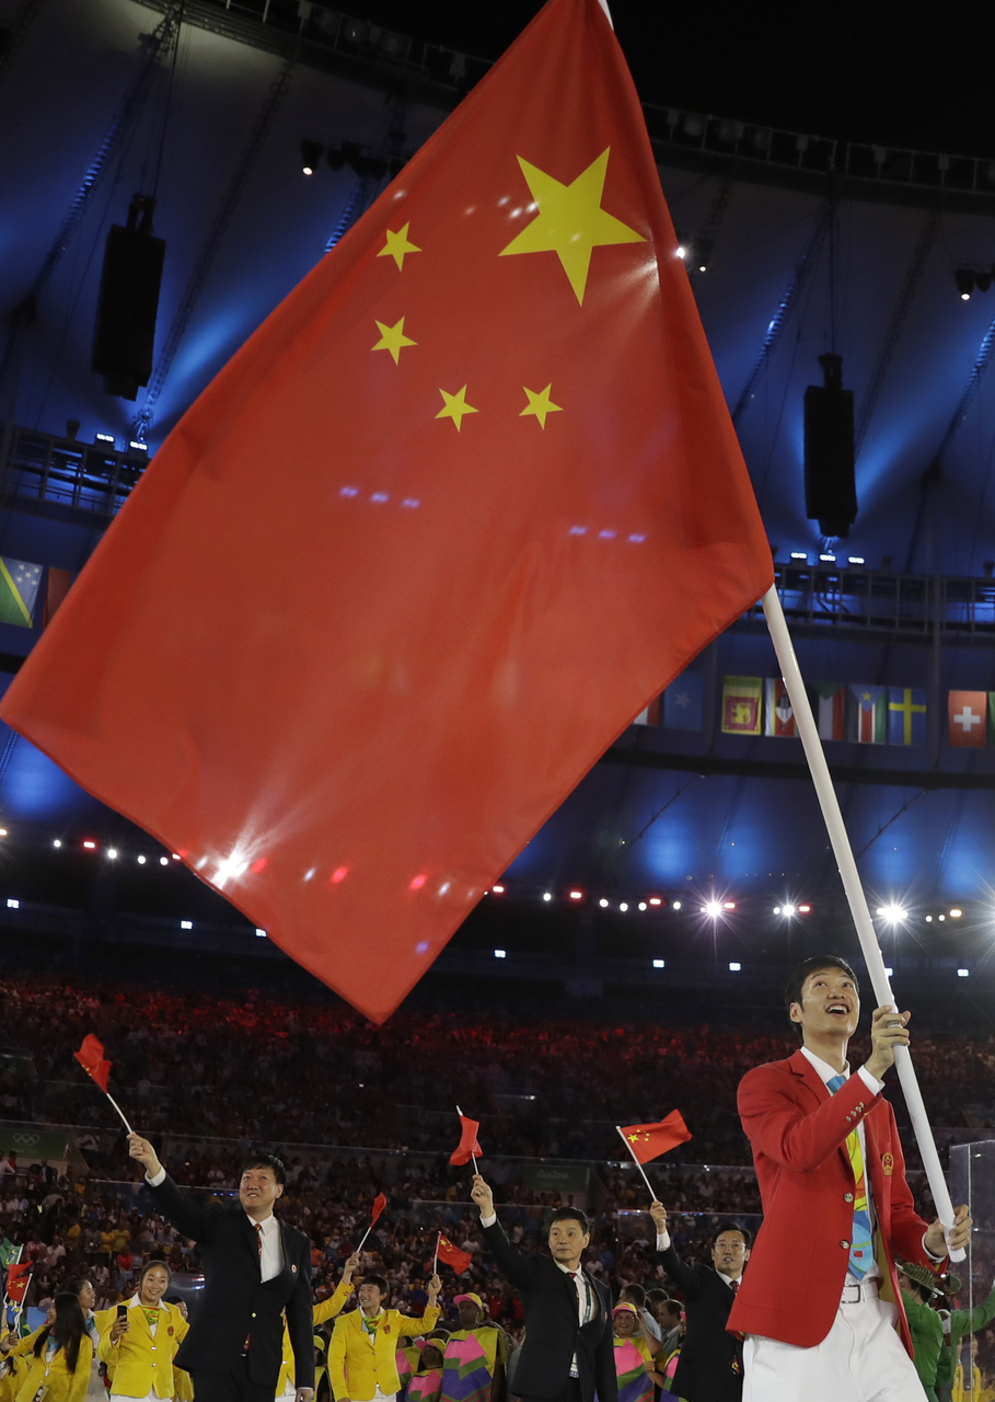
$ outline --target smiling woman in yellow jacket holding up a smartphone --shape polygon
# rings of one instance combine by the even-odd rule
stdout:
[[[108,1367],[111,1402],[135,1402],[136,1398],[172,1402],[172,1359],[188,1325],[177,1305],[163,1298],[170,1279],[165,1262],[150,1260],[142,1267],[132,1298],[97,1316],[101,1332],[97,1353]]]

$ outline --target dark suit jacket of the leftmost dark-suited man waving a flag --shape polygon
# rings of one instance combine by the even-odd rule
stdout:
[[[276,1392],[286,1309],[294,1380],[298,1388],[313,1388],[311,1242],[304,1232],[280,1223],[283,1270],[262,1281],[258,1241],[241,1203],[195,1202],[170,1176],[158,1187],[146,1186],[158,1211],[198,1242],[203,1260],[203,1301],[177,1350],[177,1367],[230,1373],[251,1333],[249,1377]]]

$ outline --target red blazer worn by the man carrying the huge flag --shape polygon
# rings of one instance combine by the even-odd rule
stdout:
[[[929,1265],[926,1223],[912,1207],[894,1112],[853,1074],[831,1095],[796,1052],[740,1081],[739,1109],[753,1145],[764,1223],[743,1276],[729,1329],[811,1349],[832,1328],[849,1262],[853,1171],[846,1136],[863,1120],[877,1227],[891,1277],[883,1293],[898,1305],[901,1338],[912,1343],[895,1276],[895,1252]]]

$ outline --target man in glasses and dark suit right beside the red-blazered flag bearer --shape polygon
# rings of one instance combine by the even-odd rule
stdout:
[[[687,1402],[740,1402],[743,1342],[727,1333],[729,1311],[750,1259],[750,1232],[723,1223],[712,1241],[712,1265],[688,1266],[674,1251],[663,1203],[653,1203],[656,1249],[684,1295],[685,1332],[674,1392]]]

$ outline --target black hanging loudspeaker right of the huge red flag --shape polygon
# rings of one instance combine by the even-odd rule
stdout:
[[[844,362],[820,355],[824,384],[804,391],[804,513],[823,536],[849,536],[856,520],[853,391],[844,390]]]

